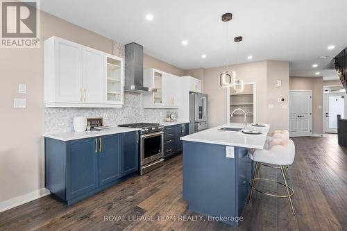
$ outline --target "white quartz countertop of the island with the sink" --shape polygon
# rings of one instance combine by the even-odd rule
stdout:
[[[264,124],[266,127],[255,127],[248,123],[247,129],[257,130],[262,132],[261,135],[244,134],[242,131],[226,131],[219,130],[220,128],[243,128],[243,123],[226,123],[221,126],[196,132],[180,139],[188,142],[201,142],[208,144],[221,144],[226,146],[239,146],[244,148],[263,149],[266,141],[267,132],[269,132],[269,124]]]

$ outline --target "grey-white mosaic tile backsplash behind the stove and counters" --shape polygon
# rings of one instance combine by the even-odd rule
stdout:
[[[44,130],[46,133],[73,131],[72,121],[78,116],[103,117],[105,126],[112,127],[122,123],[160,123],[167,117],[167,111],[168,109],[145,109],[142,94],[124,92],[123,108],[45,108]]]

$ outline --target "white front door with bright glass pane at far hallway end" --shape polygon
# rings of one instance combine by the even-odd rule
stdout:
[[[346,93],[325,94],[325,132],[337,133],[337,115],[344,118]]]

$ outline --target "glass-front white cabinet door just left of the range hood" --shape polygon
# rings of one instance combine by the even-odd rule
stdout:
[[[124,60],[114,55],[105,55],[106,102],[123,104]]]

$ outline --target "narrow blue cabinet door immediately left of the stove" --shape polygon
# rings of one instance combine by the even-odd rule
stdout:
[[[139,132],[126,132],[123,136],[123,175],[139,169]]]

